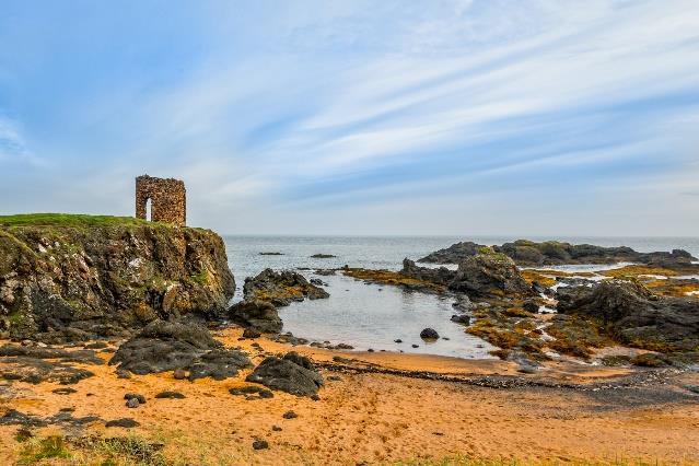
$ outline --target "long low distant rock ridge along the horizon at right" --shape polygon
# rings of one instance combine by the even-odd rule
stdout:
[[[485,246],[471,243],[456,243],[419,259],[419,263],[459,264],[476,256]],[[616,264],[638,263],[656,267],[676,268],[690,266],[697,260],[683,249],[672,252],[639,253],[630,247],[602,247],[591,244],[570,244],[556,241],[536,243],[519,240],[493,246],[498,253],[512,258],[521,267],[556,266],[567,264]]]

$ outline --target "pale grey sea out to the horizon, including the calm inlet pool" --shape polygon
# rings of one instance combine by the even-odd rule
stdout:
[[[229,266],[235,275],[236,296],[242,299],[245,277],[253,277],[265,268],[293,269],[306,278],[321,278],[328,286],[327,300],[293,303],[279,310],[284,331],[311,341],[352,345],[357,350],[404,351],[451,356],[466,359],[490,358],[492,347],[452,323],[452,300],[424,293],[405,291],[396,287],[364,284],[341,275],[318,277],[315,269],[345,265],[372,269],[398,270],[405,257],[418,259],[458,241],[480,244],[502,244],[516,237],[342,237],[342,236],[224,236]],[[543,241],[550,238],[531,240]],[[629,246],[640,252],[683,248],[699,257],[699,238],[671,237],[566,237],[570,243],[599,246]],[[279,256],[259,253],[281,253]],[[312,258],[314,254],[331,254],[327,259]],[[597,266],[598,268],[599,266]],[[301,269],[301,270],[299,270]],[[587,267],[580,267],[587,270]],[[442,337],[427,343],[420,330],[431,327]],[[401,339],[403,343],[394,340]],[[418,348],[412,348],[417,345]]]

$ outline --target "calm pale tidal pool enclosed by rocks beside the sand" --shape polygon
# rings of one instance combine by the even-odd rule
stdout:
[[[312,276],[312,275],[310,275]],[[453,300],[405,291],[397,287],[365,284],[343,276],[321,277],[328,283],[327,300],[292,303],[279,310],[284,331],[316,341],[345,342],[358,350],[404,350],[411,353],[491,358],[486,341],[450,321]],[[433,328],[440,337],[426,342],[420,331]],[[401,343],[394,340],[400,339]],[[418,345],[419,348],[412,348]]]

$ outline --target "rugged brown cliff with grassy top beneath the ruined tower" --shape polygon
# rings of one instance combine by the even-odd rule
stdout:
[[[235,282],[208,230],[131,218],[0,217],[0,330],[47,342],[224,315]]]

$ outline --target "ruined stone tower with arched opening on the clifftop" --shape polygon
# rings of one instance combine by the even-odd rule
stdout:
[[[151,201],[151,218],[145,218],[145,206]],[[153,222],[166,222],[185,226],[187,222],[187,190],[185,182],[173,178],[154,178],[143,175],[136,178],[136,218]]]

